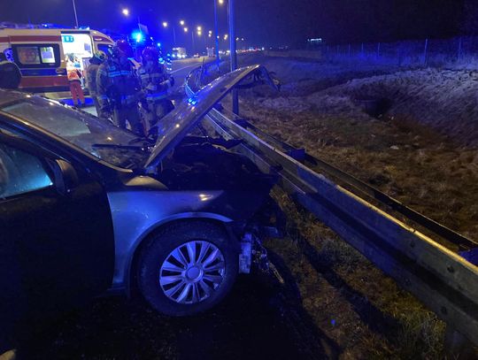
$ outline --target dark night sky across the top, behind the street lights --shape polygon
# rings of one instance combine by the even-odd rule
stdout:
[[[374,42],[459,34],[464,3],[474,0],[236,0],[237,35],[248,45],[298,45],[308,37],[329,43]],[[213,0],[76,0],[81,25],[130,33],[137,17],[158,37],[164,20],[186,20],[189,28],[213,29]],[[127,7],[129,19],[121,14]],[[469,11],[467,11],[469,12]],[[2,0],[0,21],[73,26],[70,0]],[[473,22],[473,21],[472,21]],[[473,30],[473,29],[472,29]],[[178,36],[184,36],[177,27]],[[220,6],[220,33],[227,32],[226,5]],[[180,39],[181,40],[181,39]]]

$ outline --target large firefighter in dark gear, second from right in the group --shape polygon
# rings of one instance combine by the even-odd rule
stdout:
[[[138,112],[141,87],[135,65],[129,60],[133,57],[133,49],[125,40],[119,40],[110,52],[96,73],[100,112],[105,118],[112,117],[114,124],[120,128],[126,129],[128,122],[133,132],[143,136]]]

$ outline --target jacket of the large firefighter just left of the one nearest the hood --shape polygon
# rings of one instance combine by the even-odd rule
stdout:
[[[96,90],[102,111],[135,106],[142,97],[135,66],[130,61],[121,65],[109,58],[96,73]]]

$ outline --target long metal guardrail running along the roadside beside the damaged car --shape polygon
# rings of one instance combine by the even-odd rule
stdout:
[[[190,75],[197,71],[202,72],[204,69],[196,69]],[[189,82],[191,79],[193,76],[189,76],[186,84],[189,96],[195,93],[194,90],[198,90],[191,88],[192,84]],[[428,309],[433,310],[447,323],[451,332],[458,332],[478,345],[477,266],[367,202],[365,198],[336,184],[330,180],[330,176],[312,171],[292,157],[293,151],[300,151],[299,149],[280,142],[252,126],[252,130],[257,132],[254,134],[244,127],[247,126],[247,122],[229,117],[231,116],[213,109],[205,119],[224,138],[242,140],[235,151],[249,157],[261,171],[279,174],[279,185],[297,203],[311,211],[344,241],[358,249],[383,272],[396,280],[398,285],[415,295]],[[320,162],[319,159],[308,156],[305,151],[303,155],[305,160],[309,157],[309,160]],[[321,163],[323,163],[319,164],[322,165],[319,166],[321,171],[325,169],[330,173],[335,170],[333,177],[340,177],[351,188],[358,188],[362,194],[370,196],[378,192],[332,165]],[[384,196],[386,198],[382,199],[383,203],[391,205],[392,208],[395,204],[395,211],[401,210],[401,207],[405,208],[400,203],[390,203],[391,198]],[[377,196],[374,198],[377,199]],[[408,208],[405,210],[411,211]],[[412,215],[411,218],[415,217],[413,220],[415,222],[417,219],[420,220],[420,217],[425,218],[415,211],[406,214],[407,211],[402,214]],[[433,220],[428,220],[432,223],[421,225],[432,232],[443,231],[441,236],[451,237],[454,242],[466,245],[464,247],[467,249],[478,249],[474,241],[451,232]]]

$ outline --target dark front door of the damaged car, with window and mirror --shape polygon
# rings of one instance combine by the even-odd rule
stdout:
[[[0,354],[13,327],[101,294],[114,269],[111,211],[90,169],[5,133],[0,126]]]

